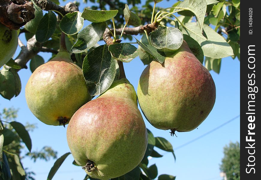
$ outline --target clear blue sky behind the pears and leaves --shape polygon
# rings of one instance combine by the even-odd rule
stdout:
[[[161,7],[170,6],[170,1],[162,1],[159,3]],[[176,1],[173,1],[173,4]],[[65,3],[62,2],[61,5]],[[80,11],[89,4],[84,4],[79,7]],[[45,12],[44,12],[45,13]],[[89,22],[85,21],[84,26]],[[135,36],[140,39],[141,36]],[[25,42],[24,36],[21,36]],[[129,41],[128,41],[129,42]],[[101,42],[103,43],[103,42]],[[20,49],[18,48],[15,54],[18,55]],[[39,53],[47,61],[50,53]],[[28,63],[29,66],[29,63]],[[143,69],[143,65],[139,58],[135,58],[129,63],[124,63],[126,77],[134,85],[137,90],[138,80]],[[4,107],[19,108],[17,121],[22,124],[26,122],[37,123],[37,129],[30,132],[32,139],[32,151],[40,150],[43,146],[51,146],[54,150],[58,151],[58,157],[66,152],[70,152],[66,140],[66,128],[62,126],[49,126],[40,122],[28,109],[25,99],[25,85],[31,75],[29,69],[22,69],[19,71],[19,76],[22,82],[22,91],[16,98],[11,101],[0,98],[0,110]],[[175,150],[176,147],[195,139],[196,137],[205,134],[206,132],[218,127],[219,125],[227,122],[233,117],[239,115],[240,111],[240,62],[238,59],[230,57],[223,58],[221,63],[220,73],[217,74],[211,71],[211,75],[216,85],[216,102],[213,110],[199,125],[198,129],[190,132],[176,133],[178,137],[171,137],[169,131],[163,131],[152,127],[144,118],[146,127],[152,131],[155,137],[164,137],[172,144],[176,155],[176,162],[170,152],[164,152],[155,148],[162,158],[152,158],[149,161],[149,166],[156,164],[158,167],[158,175],[170,174],[177,176],[177,180],[221,180],[219,173],[219,164],[223,158],[223,147],[229,142],[240,142],[240,118],[226,124],[222,128],[206,135],[205,137],[188,144],[180,149]],[[139,107],[140,108],[140,107]],[[26,151],[25,151],[26,152]],[[49,170],[51,169],[55,160],[48,162],[37,160],[36,163],[29,158],[22,160],[23,166],[29,168],[30,171],[36,173],[35,179],[47,179]],[[58,172],[53,177],[54,180],[81,180],[85,177],[85,172],[81,167],[72,165],[73,157],[69,155],[64,163],[61,165]]]

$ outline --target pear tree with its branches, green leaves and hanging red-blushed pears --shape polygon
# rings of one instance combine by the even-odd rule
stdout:
[[[148,167],[148,157],[161,155],[154,146],[176,157],[166,139],[146,128],[142,114],[171,136],[207,118],[216,100],[209,71],[219,73],[222,58],[240,59],[240,1],[168,0],[169,7],[161,7],[163,0],[89,1],[93,6],[79,11],[87,0],[64,6],[58,0],[0,0],[0,94],[23,96],[24,85],[39,123],[67,126],[71,152],[57,159],[47,179],[69,154],[85,179],[155,179],[157,167]],[[44,60],[40,52],[52,57]],[[147,65],[137,93],[124,71],[136,57]],[[19,70],[28,66],[32,75],[21,84]],[[30,152],[24,125],[1,122],[1,179],[33,179],[20,151],[11,151],[22,142]]]

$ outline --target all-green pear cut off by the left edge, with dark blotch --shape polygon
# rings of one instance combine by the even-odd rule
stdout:
[[[17,31],[0,23],[0,68],[12,58],[17,45]]]

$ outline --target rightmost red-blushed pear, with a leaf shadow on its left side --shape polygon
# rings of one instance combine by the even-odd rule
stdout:
[[[167,55],[163,64],[152,61],[140,76],[137,95],[147,120],[158,129],[192,131],[212,110],[216,88],[211,74],[187,43]]]

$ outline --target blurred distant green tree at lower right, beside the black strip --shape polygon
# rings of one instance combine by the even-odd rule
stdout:
[[[231,142],[224,147],[220,170],[226,173],[227,180],[240,180],[240,143]]]

